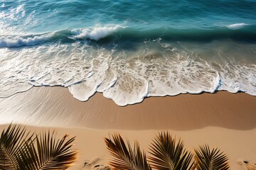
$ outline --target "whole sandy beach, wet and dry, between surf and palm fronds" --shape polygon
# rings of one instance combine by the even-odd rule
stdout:
[[[71,169],[81,169],[85,160],[93,158],[92,166],[105,164],[110,155],[103,137],[109,133],[120,132],[130,142],[138,140],[147,150],[158,130],[181,137],[191,151],[206,143],[218,147],[228,154],[231,169],[240,169],[238,159],[256,161],[255,120],[255,96],[225,91],[152,97],[125,107],[102,94],[80,102],[61,87],[32,88],[0,98],[1,130],[3,124],[14,122],[54,127],[59,135],[77,136],[75,148],[80,154]]]

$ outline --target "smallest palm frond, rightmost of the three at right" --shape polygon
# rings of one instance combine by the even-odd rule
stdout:
[[[228,157],[215,148],[210,151],[208,145],[194,149],[196,169],[198,170],[227,170],[229,169]]]

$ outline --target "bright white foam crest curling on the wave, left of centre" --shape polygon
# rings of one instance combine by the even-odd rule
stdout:
[[[86,39],[90,38],[91,40],[100,40],[101,38],[107,37],[107,35],[111,35],[114,31],[119,28],[124,28],[123,26],[104,26],[104,27],[95,27],[92,29],[84,28],[84,29],[73,29],[71,33],[73,33],[74,39]]]

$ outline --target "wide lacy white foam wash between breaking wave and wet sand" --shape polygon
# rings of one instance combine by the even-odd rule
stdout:
[[[146,41],[129,52],[117,50],[116,46],[107,49],[79,42],[72,45],[56,42],[17,50],[1,48],[0,97],[31,86],[65,86],[80,101],[87,101],[95,92],[101,92],[119,106],[139,103],[148,96],[202,91],[245,91],[256,96],[256,65],[230,60],[233,53],[220,52],[218,56],[214,50],[220,49],[217,47],[220,42],[212,43],[206,44],[207,49],[211,49],[206,55],[214,57],[206,57],[206,60],[191,51],[202,52],[201,48],[188,49],[189,45],[182,42],[168,44],[160,40]],[[225,49],[227,44],[223,42],[221,47]],[[236,47],[255,56],[253,46],[239,44]],[[215,62],[218,57],[220,62]]]

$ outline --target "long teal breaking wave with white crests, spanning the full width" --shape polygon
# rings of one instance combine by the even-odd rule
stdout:
[[[58,30],[52,33],[27,34],[27,35],[0,35],[0,47],[22,47],[41,45],[46,42],[75,42],[79,40],[105,40],[109,43],[113,40],[142,41],[162,38],[165,40],[246,40],[256,41],[256,26],[245,23],[235,23],[212,29],[174,29],[157,28],[154,30],[134,30],[121,25],[102,26],[95,28],[77,28],[71,30]]]

